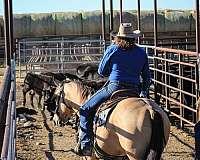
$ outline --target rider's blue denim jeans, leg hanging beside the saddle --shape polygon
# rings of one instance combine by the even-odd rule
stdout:
[[[85,104],[80,107],[80,142],[81,148],[90,147],[93,134],[93,119],[97,108],[110,98],[114,91],[130,89],[116,82],[109,82],[107,86],[98,90]],[[138,91],[138,88],[135,88]],[[139,93],[139,91],[138,91]]]

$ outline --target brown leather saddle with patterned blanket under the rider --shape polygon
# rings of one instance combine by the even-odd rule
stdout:
[[[118,90],[115,91],[109,100],[106,102],[102,103],[100,107],[98,108],[96,114],[95,114],[95,119],[94,119],[94,125],[96,127],[101,126],[103,124],[106,124],[109,116],[111,115],[112,111],[114,108],[117,106],[117,104],[130,97],[137,97],[139,98],[138,93],[136,91],[131,90],[131,89],[123,89],[123,90]],[[95,127],[94,127],[95,128]]]

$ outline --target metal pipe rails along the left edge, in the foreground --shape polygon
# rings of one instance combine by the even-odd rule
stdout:
[[[15,159],[16,81],[15,62],[11,60],[4,73],[0,90],[0,153],[1,160]]]

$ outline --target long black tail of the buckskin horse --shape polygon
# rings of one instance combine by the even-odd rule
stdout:
[[[152,134],[146,160],[160,160],[165,144],[163,120],[159,112],[155,111],[152,119]]]

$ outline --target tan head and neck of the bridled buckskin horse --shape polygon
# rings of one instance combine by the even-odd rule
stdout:
[[[79,113],[82,105],[93,93],[93,89],[82,81],[67,79],[60,83],[54,92],[56,114],[61,120],[71,118],[73,113]]]

